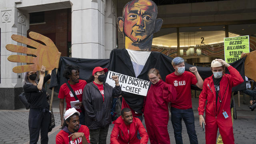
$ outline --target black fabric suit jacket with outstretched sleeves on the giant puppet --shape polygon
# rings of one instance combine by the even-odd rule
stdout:
[[[156,68],[160,71],[160,75],[162,79],[165,81],[165,78],[168,74],[174,72],[174,68],[172,67],[173,58],[166,56],[160,52],[151,52],[148,60],[142,72],[138,75],[137,78],[142,80],[148,80],[148,70],[150,68]],[[242,58],[237,60],[236,62],[231,63],[236,70],[238,70],[241,76],[244,78],[244,60]],[[60,64],[58,68],[58,74],[56,75],[55,70],[52,72],[50,87],[56,86],[54,91],[58,92],[60,86],[67,82],[66,78],[63,77],[64,69],[66,64],[76,65],[80,68],[80,79],[88,80],[88,78],[92,74],[92,70],[96,66],[101,66],[102,68],[108,68],[113,72],[118,72],[120,74],[125,74],[127,76],[135,77],[135,72],[132,66],[132,62],[130,56],[126,49],[114,49],[110,53],[110,59],[83,59],[83,58],[68,58],[61,57]],[[189,71],[189,68],[193,65],[185,63],[185,70]],[[198,72],[202,79],[212,76],[212,71],[208,67],[198,67]],[[226,69],[226,73],[229,73]],[[200,90],[196,86],[191,86],[193,90]],[[244,90],[246,89],[245,82],[232,88],[232,91]],[[137,94],[132,94],[128,92],[122,92],[122,96],[126,100],[127,104],[138,113],[142,113],[142,107],[144,102],[144,96],[140,96]]]

